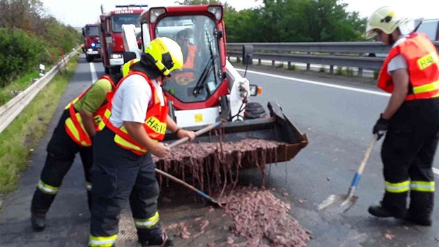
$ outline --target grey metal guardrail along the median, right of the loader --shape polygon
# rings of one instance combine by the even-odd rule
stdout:
[[[433,42],[439,50],[439,42]],[[384,54],[390,47],[378,42],[321,42],[321,43],[229,43],[227,56],[242,58],[242,47],[253,45],[253,59],[286,61],[288,63],[307,63],[333,66],[357,67],[362,76],[363,68],[379,70],[385,60]],[[382,54],[368,57],[369,54]]]

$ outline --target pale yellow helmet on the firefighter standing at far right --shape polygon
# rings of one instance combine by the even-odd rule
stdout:
[[[383,33],[393,33],[401,24],[408,22],[407,17],[403,17],[401,13],[392,6],[384,6],[378,8],[367,20],[365,38],[370,39],[376,36],[376,29],[380,29]]]

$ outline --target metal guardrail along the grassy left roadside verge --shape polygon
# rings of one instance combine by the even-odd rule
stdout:
[[[9,126],[15,117],[22,112],[24,107],[29,105],[33,98],[49,83],[53,77],[59,72],[59,68],[66,66],[67,62],[77,54],[73,51],[68,54],[63,60],[59,61],[56,66],[51,68],[43,77],[40,77],[36,82],[33,82],[26,90],[19,93],[17,96],[9,100],[5,105],[0,107],[0,133]]]

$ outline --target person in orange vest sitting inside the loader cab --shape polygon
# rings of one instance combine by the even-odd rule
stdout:
[[[183,71],[176,74],[176,82],[179,85],[190,84],[194,81],[194,64],[195,57],[197,54],[197,45],[190,44],[190,33],[191,29],[183,29],[177,33],[176,41],[181,47],[181,52],[183,53]],[[185,71],[186,70],[186,71]]]

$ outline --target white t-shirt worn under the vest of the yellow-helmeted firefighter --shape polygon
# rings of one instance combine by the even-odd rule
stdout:
[[[162,87],[152,80],[161,105],[164,105]],[[148,103],[151,100],[151,87],[141,75],[129,75],[114,93],[109,121],[117,128],[123,121],[144,123]]]

